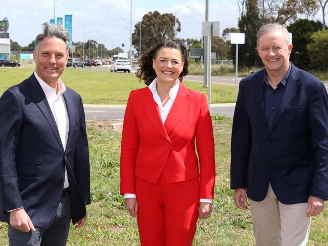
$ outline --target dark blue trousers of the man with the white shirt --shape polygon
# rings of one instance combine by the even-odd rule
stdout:
[[[10,246],[65,246],[71,222],[70,195],[61,199],[57,213],[51,224],[46,227],[35,227],[35,231],[28,233],[14,229],[8,225]]]

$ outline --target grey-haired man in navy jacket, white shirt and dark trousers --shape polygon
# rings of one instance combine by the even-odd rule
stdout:
[[[89,155],[82,100],[60,75],[69,34],[43,24],[35,72],[0,99],[0,220],[10,245],[66,245],[90,204]]]

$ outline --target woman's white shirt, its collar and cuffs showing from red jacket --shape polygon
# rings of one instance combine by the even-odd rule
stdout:
[[[150,89],[150,91],[153,93],[153,98],[154,101],[156,102],[156,104],[158,105],[158,109],[162,118],[162,122],[163,125],[165,124],[166,118],[168,116],[168,114],[170,113],[170,110],[172,108],[172,105],[174,103],[175,97],[178,93],[179,90],[179,86],[180,86],[180,81],[178,81],[170,90],[169,90],[169,97],[170,99],[167,101],[167,103],[163,106],[162,102],[161,102],[161,98],[157,93],[156,90],[156,86],[157,86],[157,78],[155,78],[150,85],[148,86],[148,88]],[[125,193],[124,194],[124,199],[126,198],[136,198],[135,194],[131,194],[131,193]],[[203,199],[201,198],[199,200],[200,203],[212,203],[212,199]]]

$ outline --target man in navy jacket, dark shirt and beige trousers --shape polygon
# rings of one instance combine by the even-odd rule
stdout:
[[[265,68],[240,82],[233,117],[233,200],[250,199],[257,245],[305,245],[328,199],[327,92],[289,61],[285,27],[262,26],[257,45]]]

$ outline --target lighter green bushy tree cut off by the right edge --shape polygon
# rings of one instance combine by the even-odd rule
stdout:
[[[328,67],[328,30],[314,32],[312,41],[307,45],[310,57],[310,67],[316,70],[326,70]]]

